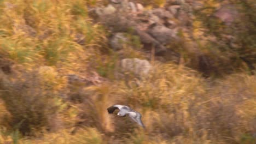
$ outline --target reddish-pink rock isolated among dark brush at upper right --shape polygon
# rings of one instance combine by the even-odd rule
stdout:
[[[231,25],[235,20],[235,17],[237,17],[237,14],[238,12],[233,5],[223,5],[222,8],[218,9],[216,13],[214,13],[214,16],[218,17],[226,25]]]

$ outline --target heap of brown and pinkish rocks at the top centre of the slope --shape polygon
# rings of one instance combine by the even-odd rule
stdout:
[[[144,49],[155,47],[155,54],[162,55],[167,50],[166,45],[178,39],[177,17],[185,2],[170,3],[166,8],[145,10],[139,3],[113,0],[104,8],[96,8],[95,14],[112,32],[109,45],[114,50],[123,49],[118,40],[126,41],[120,33],[129,33],[139,37]]]

